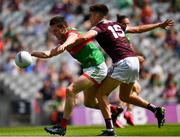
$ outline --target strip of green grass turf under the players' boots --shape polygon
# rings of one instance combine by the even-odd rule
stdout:
[[[6,137],[52,137],[44,127],[0,128],[0,136]],[[96,136],[103,130],[103,126],[69,126],[67,136]],[[116,129],[117,136],[180,136],[180,124],[166,124],[162,128],[157,125],[126,126]],[[58,135],[55,135],[56,137]]]

